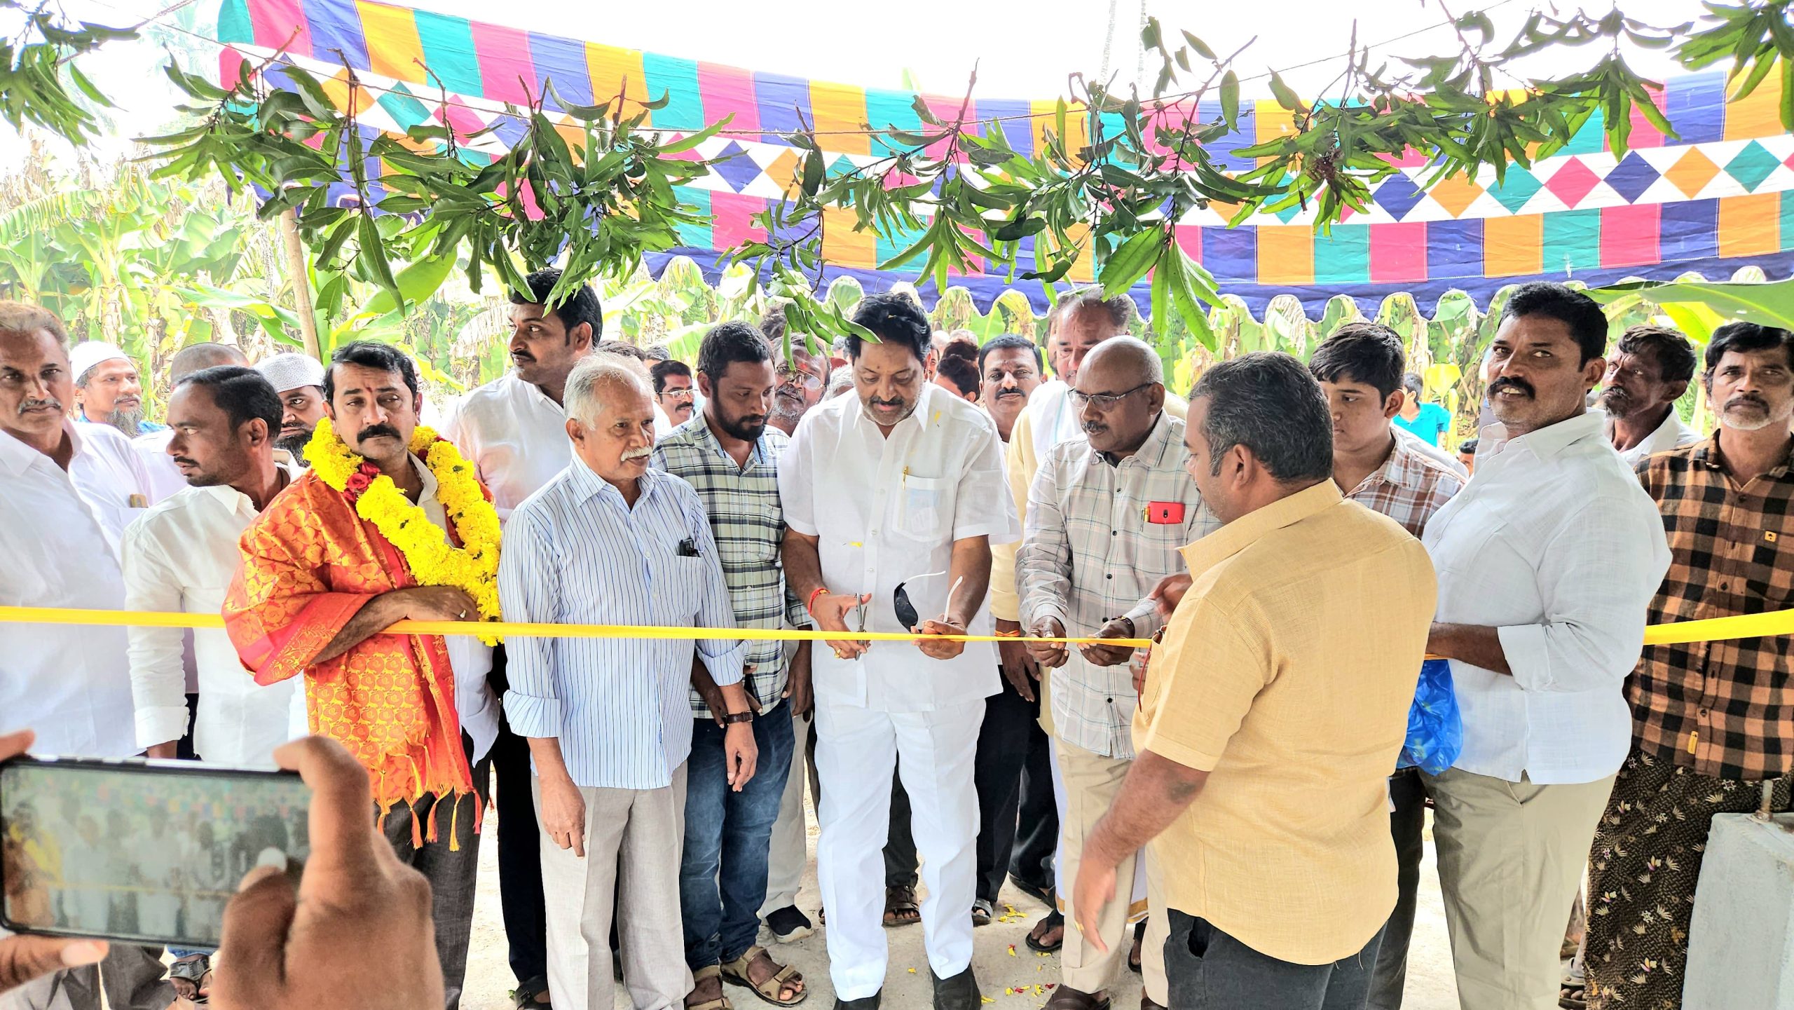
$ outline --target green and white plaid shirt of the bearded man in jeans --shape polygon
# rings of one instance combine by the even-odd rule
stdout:
[[[703,501],[736,623],[743,628],[809,626],[804,601],[786,588],[779,554],[784,540],[779,457],[789,445],[786,432],[768,425],[748,465],[737,468],[701,413],[655,443],[653,466],[684,479]],[[784,642],[748,642],[746,662],[750,667],[743,683],[748,694],[762,710],[777,705],[786,687]],[[696,691],[691,692],[691,710],[692,716],[709,716]]]

